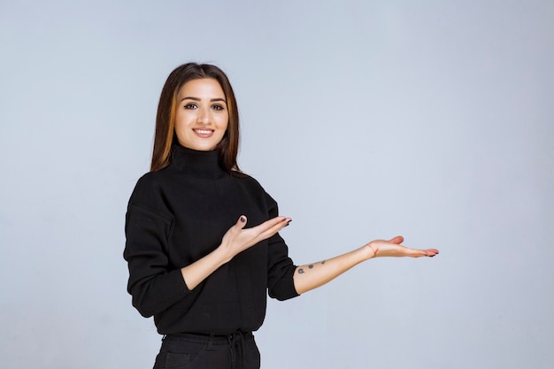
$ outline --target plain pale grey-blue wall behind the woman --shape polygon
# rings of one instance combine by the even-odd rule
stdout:
[[[294,219],[296,263],[395,234],[441,250],[270,301],[265,369],[550,368],[552,19],[551,1],[3,0],[2,367],[151,367],[124,215],[165,78],[199,61],[234,84],[240,165]]]

